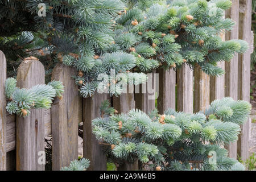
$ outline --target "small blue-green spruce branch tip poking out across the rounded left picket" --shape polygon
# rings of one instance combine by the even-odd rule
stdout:
[[[15,78],[7,78],[5,95],[7,98],[6,110],[10,114],[26,117],[31,109],[51,108],[54,97],[61,98],[64,86],[60,81],[51,81],[47,85],[35,85],[30,89],[19,89]]]

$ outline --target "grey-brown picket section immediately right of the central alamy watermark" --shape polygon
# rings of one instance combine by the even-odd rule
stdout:
[[[158,73],[158,110],[159,114],[163,114],[168,108],[175,109],[176,72],[172,68],[168,71],[164,71],[162,68],[159,68]]]

